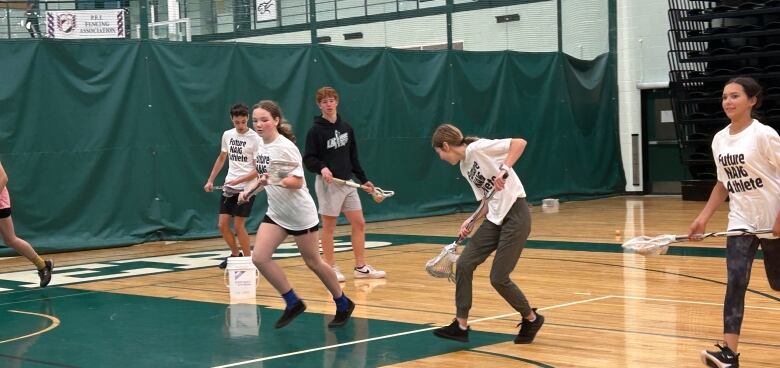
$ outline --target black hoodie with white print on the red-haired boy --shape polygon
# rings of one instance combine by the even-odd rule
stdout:
[[[306,169],[320,175],[323,167],[330,169],[333,176],[349,180],[355,174],[360,183],[368,181],[358,161],[355,132],[341,116],[331,123],[322,115],[314,117],[314,125],[306,134],[306,152],[303,164]]]

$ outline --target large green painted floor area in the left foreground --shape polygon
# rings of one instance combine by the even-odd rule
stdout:
[[[0,367],[213,367],[429,327],[354,318],[328,329],[332,316],[307,312],[275,330],[281,312],[262,306],[52,288],[0,294],[0,341],[51,324],[11,310],[52,315],[61,324],[38,336],[0,343]],[[242,366],[376,367],[513,338],[477,331],[470,337],[462,344],[422,331]]]

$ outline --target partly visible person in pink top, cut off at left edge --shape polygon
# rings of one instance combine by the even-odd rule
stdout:
[[[0,163],[0,235],[3,242],[25,258],[30,260],[38,269],[38,277],[41,279],[41,287],[46,287],[51,281],[52,260],[44,261],[41,256],[35,252],[35,249],[26,240],[17,237],[14,231],[14,222],[11,219],[11,197],[8,194],[8,175],[5,173],[3,164]]]

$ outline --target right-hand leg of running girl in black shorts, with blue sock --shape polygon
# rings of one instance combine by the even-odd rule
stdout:
[[[341,290],[341,285],[336,278],[333,269],[322,260],[318,250],[318,232],[316,230],[295,236],[295,242],[298,244],[298,250],[301,252],[303,261],[310,270],[314,271],[317,277],[328,288],[336,302],[336,316],[328,323],[328,327],[343,326],[355,310],[355,303],[352,302]]]

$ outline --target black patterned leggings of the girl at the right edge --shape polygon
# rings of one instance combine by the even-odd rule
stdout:
[[[745,314],[745,293],[758,245],[764,252],[764,268],[769,286],[780,291],[780,239],[759,239],[753,235],[730,236],[726,240],[728,286],[723,303],[723,333],[737,334]]]

